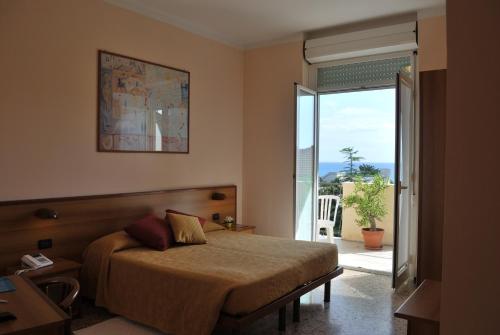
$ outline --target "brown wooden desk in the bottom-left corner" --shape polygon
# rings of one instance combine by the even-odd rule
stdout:
[[[9,276],[16,286],[13,292],[0,293],[0,312],[11,312],[17,320],[0,323],[0,335],[63,335],[69,330],[70,318],[31,280]]]

